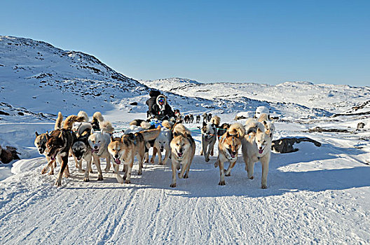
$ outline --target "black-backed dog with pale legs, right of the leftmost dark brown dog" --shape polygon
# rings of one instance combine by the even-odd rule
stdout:
[[[89,181],[88,172],[91,170],[91,162],[93,161],[93,151],[89,144],[89,137],[93,126],[90,123],[83,123],[78,127],[78,132],[74,136],[74,143],[72,144],[72,153],[78,161],[78,172],[84,172],[82,169],[82,160],[86,161],[85,178],[83,181]]]

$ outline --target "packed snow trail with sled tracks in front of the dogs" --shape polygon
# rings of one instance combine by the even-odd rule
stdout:
[[[0,184],[0,241],[369,244],[370,168],[322,147],[273,154],[267,190],[260,188],[260,164],[251,181],[241,158],[226,186],[217,185],[216,158],[205,163],[199,155],[189,179],[179,179],[177,188],[170,188],[170,161],[146,165],[142,176],[135,165],[129,185],[117,183],[112,173],[97,181],[96,169],[85,183],[70,158],[71,178],[55,188],[55,176],[41,176],[42,166],[36,167]]]

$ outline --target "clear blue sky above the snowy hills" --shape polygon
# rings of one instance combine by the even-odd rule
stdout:
[[[135,79],[370,85],[370,1],[1,1],[0,35]]]

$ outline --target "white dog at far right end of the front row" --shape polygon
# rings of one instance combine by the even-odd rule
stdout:
[[[266,189],[272,142],[270,130],[263,129],[261,123],[257,125],[255,132],[252,128],[246,128],[245,130],[249,132],[242,139],[242,155],[245,162],[245,170],[248,172],[248,178],[254,179],[254,164],[260,161],[262,164],[261,188]]]

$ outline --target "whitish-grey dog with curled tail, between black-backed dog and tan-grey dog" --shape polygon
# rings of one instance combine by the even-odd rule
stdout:
[[[109,172],[109,169],[111,168],[111,154],[108,152],[108,145],[111,142],[111,134],[114,132],[114,128],[109,121],[104,121],[101,123],[100,129],[100,132],[95,132],[92,130],[90,137],[88,137],[88,142],[92,149],[91,151],[93,152],[94,164],[97,167],[98,181],[102,181],[103,179],[102,169],[100,167],[100,158],[106,159],[107,166],[104,169],[105,172]],[[88,179],[89,172],[90,171],[86,169],[85,179]]]

